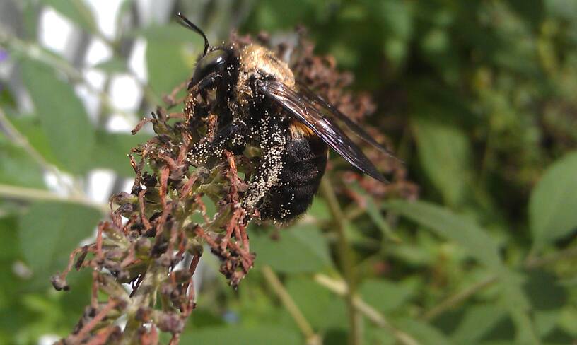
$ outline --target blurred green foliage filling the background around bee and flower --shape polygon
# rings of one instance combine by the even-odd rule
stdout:
[[[366,121],[390,136],[409,178],[421,186],[418,202],[375,204],[366,196],[366,209],[350,221],[361,298],[420,344],[575,341],[577,2],[240,2],[179,6],[205,11],[198,23],[213,38],[224,38],[231,25],[253,34],[305,25],[317,52],[334,55],[354,72],[354,87],[374,95],[378,112]],[[37,44],[31,18],[42,6],[102,37],[91,9],[80,0],[20,6],[23,35],[0,33],[0,43],[20,67],[35,112],[18,112],[11,90],[0,90],[2,344],[67,334],[90,296],[89,274],[73,274],[66,293],[52,291],[48,277],[91,235],[102,208],[79,197],[50,201],[42,170],[55,166],[76,187],[94,168],[130,176],[125,155],[146,140],[107,133],[103,121],[88,119],[74,92],[81,75]],[[118,23],[130,6],[124,1]],[[174,23],[128,30],[107,40],[114,57],[96,66],[109,78],[129,73],[119,49],[127,37],[147,42],[144,92],[151,107],[190,75],[202,47]],[[101,116],[113,110],[103,99]],[[318,283],[319,275],[339,275],[328,214],[317,197],[296,226],[253,229],[255,270],[238,291],[220,276],[204,281],[182,344],[303,343],[265,282],[264,265],[281,276],[324,344],[345,344],[344,300]],[[217,270],[214,257],[202,260]],[[395,344],[390,329],[368,318],[363,338]]]

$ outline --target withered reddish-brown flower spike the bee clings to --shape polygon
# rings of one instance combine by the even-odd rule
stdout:
[[[266,35],[259,39],[267,41]],[[252,42],[247,36],[233,35],[231,40],[237,45]],[[282,56],[287,46],[274,49]],[[354,97],[344,91],[351,75],[337,71],[331,57],[315,56],[302,34],[293,49],[291,69],[310,88],[356,121],[374,110],[367,95]],[[110,199],[110,220],[100,223],[95,242],[72,252],[69,266],[52,279],[54,288],[66,290],[66,274],[73,267],[93,271],[91,304],[61,344],[114,344],[121,339],[156,344],[159,330],[172,334],[170,344],[177,344],[195,308],[194,271],[203,247],[221,259],[220,271],[233,288],[253,265],[247,224],[258,214],[247,214],[241,204],[255,160],[224,149],[206,151],[216,133],[217,115],[211,113],[211,101],[194,88],[177,99],[185,86],[186,82],[165,97],[167,108],[158,107],[133,130],[151,123],[156,136],[129,154],[135,172],[131,191]],[[168,111],[180,104],[182,112]],[[387,144],[383,136],[376,139]],[[376,188],[359,174],[347,173],[347,178],[361,181],[362,187],[380,197],[391,190],[415,192],[404,180],[400,163],[375,161],[385,162],[379,168],[393,172],[395,183]],[[206,214],[206,200],[216,206],[214,216]],[[122,284],[129,284],[132,291]],[[107,300],[99,300],[99,292]],[[161,308],[155,308],[157,296]],[[124,329],[115,323],[122,315],[127,317]]]

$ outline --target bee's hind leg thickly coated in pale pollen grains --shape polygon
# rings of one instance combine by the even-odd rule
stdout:
[[[262,156],[243,203],[249,214],[279,181],[286,151],[286,134],[280,123],[264,124],[260,131],[260,148]]]

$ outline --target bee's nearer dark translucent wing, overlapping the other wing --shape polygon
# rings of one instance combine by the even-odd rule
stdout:
[[[260,85],[260,90],[310,128],[349,163],[374,179],[387,183],[359,146],[356,146],[330,117],[320,112],[308,97],[299,95],[279,81],[266,81]]]

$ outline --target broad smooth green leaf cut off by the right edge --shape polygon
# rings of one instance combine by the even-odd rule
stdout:
[[[577,228],[577,151],[568,153],[545,172],[529,201],[529,223],[537,249]]]

